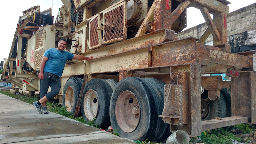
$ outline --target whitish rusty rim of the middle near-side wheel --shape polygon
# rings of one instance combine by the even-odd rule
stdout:
[[[89,121],[97,117],[99,112],[99,95],[96,91],[90,89],[84,96],[84,113]]]

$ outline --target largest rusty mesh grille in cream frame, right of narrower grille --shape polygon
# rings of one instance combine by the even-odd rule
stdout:
[[[104,14],[104,35],[102,44],[125,39],[124,5]]]

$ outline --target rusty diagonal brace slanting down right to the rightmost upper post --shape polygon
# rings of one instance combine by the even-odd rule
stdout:
[[[208,25],[208,28],[210,28],[210,31],[212,33],[212,36],[213,36],[213,39],[214,41],[220,41],[220,34],[218,32],[218,29],[216,28],[211,16],[210,16],[210,13],[207,9],[207,7],[202,7],[200,9],[203,17],[204,17],[204,20],[206,22],[206,24]]]

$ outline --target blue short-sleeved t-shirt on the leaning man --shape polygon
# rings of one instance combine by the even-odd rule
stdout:
[[[74,54],[68,51],[59,51],[57,48],[51,48],[44,52],[44,56],[48,58],[45,63],[44,71],[61,76],[67,60],[71,60]]]

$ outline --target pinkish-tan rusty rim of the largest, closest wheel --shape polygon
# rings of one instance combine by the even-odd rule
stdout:
[[[124,132],[133,132],[140,122],[140,105],[131,91],[122,92],[116,100],[116,121]]]

